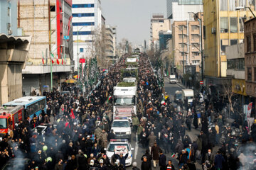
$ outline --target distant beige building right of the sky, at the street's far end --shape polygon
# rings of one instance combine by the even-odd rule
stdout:
[[[151,18],[150,40],[151,47],[159,48],[159,31],[171,29],[170,20],[164,18],[164,14],[156,13]]]

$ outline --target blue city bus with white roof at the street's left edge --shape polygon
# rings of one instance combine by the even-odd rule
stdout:
[[[3,106],[23,106],[24,117],[29,117],[31,120],[34,115],[38,116],[42,113],[42,110],[46,113],[46,96],[25,96],[5,103]]]

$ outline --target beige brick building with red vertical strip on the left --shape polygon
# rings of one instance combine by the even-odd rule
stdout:
[[[50,90],[52,84],[58,87],[70,75],[73,67],[71,6],[72,0],[19,1],[18,28],[22,28],[23,35],[32,36],[26,67],[22,70],[26,95],[34,89],[39,93]]]

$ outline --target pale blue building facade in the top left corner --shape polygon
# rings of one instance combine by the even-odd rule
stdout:
[[[18,35],[17,0],[0,1],[0,33]]]

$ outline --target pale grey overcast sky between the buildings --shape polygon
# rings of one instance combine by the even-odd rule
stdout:
[[[102,14],[106,23],[117,26],[117,41],[127,38],[142,45],[150,39],[152,13],[164,13],[166,0],[102,0]]]

